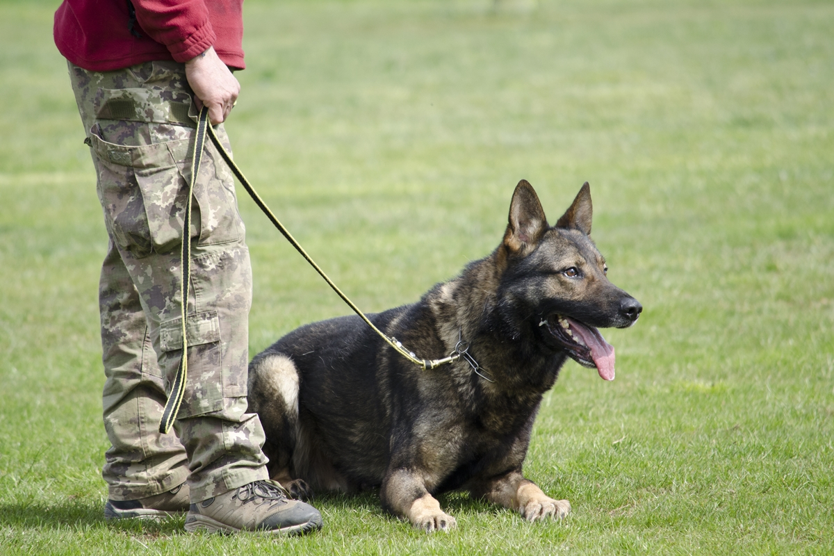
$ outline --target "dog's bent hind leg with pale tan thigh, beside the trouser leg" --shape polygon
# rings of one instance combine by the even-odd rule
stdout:
[[[264,353],[249,363],[249,411],[258,413],[266,433],[264,454],[269,477],[293,498],[309,499],[313,491],[296,478],[294,452],[299,443],[299,373],[292,359]]]

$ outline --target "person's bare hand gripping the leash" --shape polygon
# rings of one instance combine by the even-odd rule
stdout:
[[[214,48],[185,63],[185,78],[194,92],[194,103],[198,110],[208,107],[208,119],[214,125],[229,118],[235,101],[240,94],[240,83],[218,58]]]

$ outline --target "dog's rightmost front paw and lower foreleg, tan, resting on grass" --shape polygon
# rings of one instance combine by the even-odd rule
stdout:
[[[470,494],[473,498],[484,498],[515,509],[529,521],[564,518],[570,512],[570,502],[550,498],[520,471],[510,471],[484,483],[470,485]]]

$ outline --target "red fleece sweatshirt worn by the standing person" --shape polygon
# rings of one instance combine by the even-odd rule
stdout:
[[[93,72],[152,60],[185,62],[214,47],[244,65],[244,0],[63,0],[53,34],[70,62]],[[138,37],[136,35],[139,35]]]

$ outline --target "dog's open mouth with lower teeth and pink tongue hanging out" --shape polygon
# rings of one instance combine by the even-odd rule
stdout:
[[[614,380],[614,346],[605,342],[599,330],[559,314],[542,319],[539,326],[546,326],[576,363],[596,368],[604,380]]]

